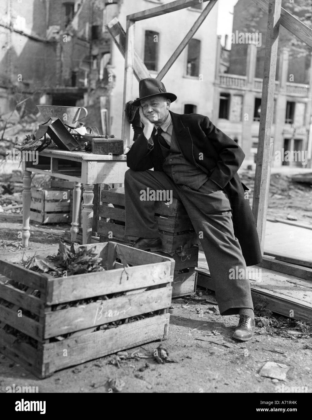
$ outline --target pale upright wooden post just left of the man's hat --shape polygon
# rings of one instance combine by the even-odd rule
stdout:
[[[134,63],[134,28],[135,21],[127,21],[126,29],[126,57],[125,57],[125,79],[123,81],[123,106],[132,97],[132,81],[133,81],[133,63]],[[124,141],[125,146],[130,144],[130,124],[127,121],[126,113],[123,110],[122,119],[122,134],[121,138]]]

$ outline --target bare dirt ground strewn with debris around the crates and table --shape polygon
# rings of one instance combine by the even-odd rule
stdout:
[[[246,173],[248,186],[249,176]],[[295,213],[298,220],[311,224],[311,187],[295,185],[285,176],[273,176],[273,184],[269,215],[286,218]],[[0,213],[0,255],[22,249],[21,227],[20,213]],[[31,223],[28,249],[57,246],[69,227]],[[121,393],[275,393],[282,384],[306,387],[302,390],[311,393],[312,326],[279,318],[263,310],[263,302],[254,303],[258,326],[253,339],[243,343],[231,338],[238,316],[220,316],[213,292],[198,287],[196,295],[173,299],[169,338],[163,342],[170,363],[157,363],[153,353],[160,342],[153,342],[39,380],[0,355],[0,392],[14,383],[38,386],[39,393],[103,393],[110,392],[109,380],[117,378]],[[285,381],[259,374],[267,361],[289,367]]]

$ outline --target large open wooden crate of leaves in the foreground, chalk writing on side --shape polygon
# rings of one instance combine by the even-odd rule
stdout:
[[[7,278],[0,281],[0,352],[39,378],[167,338],[174,260],[113,242],[86,247],[95,247],[105,271],[52,278],[16,264],[23,254],[47,257],[57,247],[0,259]],[[139,315],[145,318],[133,319]]]

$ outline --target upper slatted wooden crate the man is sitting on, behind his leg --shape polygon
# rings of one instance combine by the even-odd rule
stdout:
[[[124,188],[103,190],[101,202],[99,209],[101,220],[98,222],[98,234],[102,238],[100,240],[117,240],[133,244],[137,238],[125,236]],[[163,252],[181,251],[182,248],[189,248],[199,241],[185,208],[177,199],[173,199],[171,204],[157,201],[155,219],[163,244]]]

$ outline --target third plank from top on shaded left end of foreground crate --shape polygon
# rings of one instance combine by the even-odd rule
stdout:
[[[18,316],[16,310],[11,310],[0,304],[0,320],[3,323],[8,324],[13,328],[16,328],[18,331],[27,334],[35,340],[42,339],[42,325],[39,322],[25,316],[23,312],[21,313],[21,315],[22,316]]]

